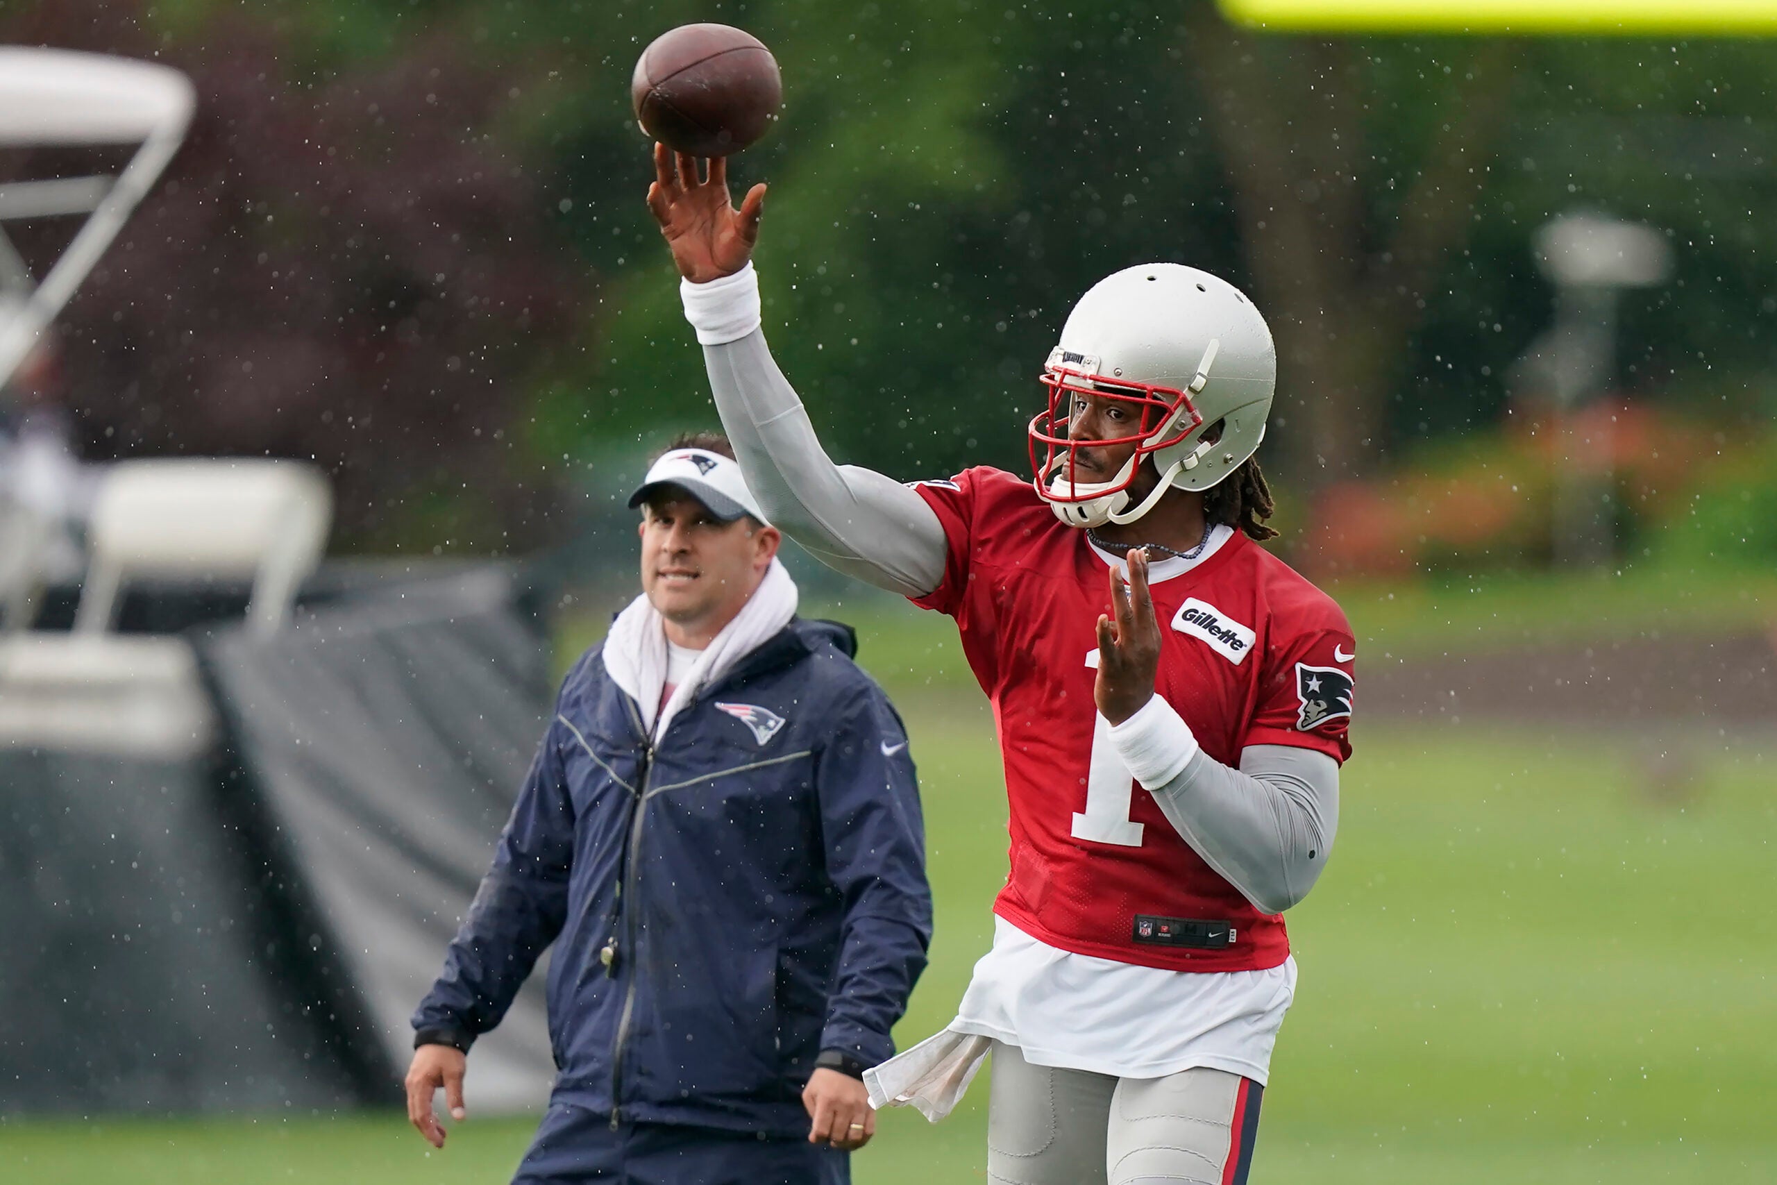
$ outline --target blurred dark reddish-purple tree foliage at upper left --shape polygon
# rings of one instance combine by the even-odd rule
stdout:
[[[549,533],[538,458],[514,435],[579,277],[519,156],[485,135],[510,101],[496,69],[425,37],[304,76],[272,27],[222,18],[162,46],[116,0],[41,4],[0,32],[158,57],[199,94],[179,155],[62,318],[89,457],[313,458],[355,547]],[[21,245],[48,258],[68,233],[30,226]]]

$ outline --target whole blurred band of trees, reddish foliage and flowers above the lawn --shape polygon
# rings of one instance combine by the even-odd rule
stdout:
[[[1589,412],[1637,426],[1610,451],[1622,553],[1777,554],[1772,43],[1256,37],[1203,0],[0,14],[7,41],[153,53],[203,96],[64,320],[89,451],[316,457],[348,547],[556,542],[638,441],[711,421],[627,82],[654,36],[718,20],[784,68],[734,179],[771,185],[768,334],[835,457],[1024,465],[1077,295],[1180,259],[1253,291],[1279,341],[1265,455],[1294,558],[1326,570],[1343,537],[1365,570],[1537,560],[1532,235],[1594,210],[1677,261],[1626,293]]]

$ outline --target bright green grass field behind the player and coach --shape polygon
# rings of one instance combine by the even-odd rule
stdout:
[[[864,631],[912,730],[938,903],[903,1043],[949,1020],[1006,862],[992,721],[947,629]],[[1674,801],[1605,736],[1354,741],[1336,855],[1290,915],[1301,988],[1253,1180],[1777,1180],[1777,746],[1711,737]],[[984,1101],[977,1080],[942,1125],[888,1112],[855,1178],[983,1180]],[[528,1135],[471,1119],[434,1153],[393,1112],[5,1121],[0,1180],[499,1181]]]

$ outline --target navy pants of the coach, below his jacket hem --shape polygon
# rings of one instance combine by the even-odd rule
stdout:
[[[851,1185],[848,1153],[807,1137],[624,1123],[553,1103],[512,1185]]]

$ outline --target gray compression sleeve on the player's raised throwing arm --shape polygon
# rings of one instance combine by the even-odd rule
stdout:
[[[773,526],[830,569],[903,597],[944,581],[938,515],[899,481],[826,457],[762,330],[705,345],[704,364],[746,487]]]

